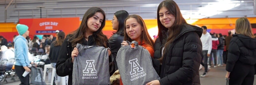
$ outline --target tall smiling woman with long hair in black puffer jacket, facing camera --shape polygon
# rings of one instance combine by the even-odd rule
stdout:
[[[173,0],[161,2],[157,9],[158,39],[155,41],[155,67],[160,80],[146,85],[200,85],[203,29],[187,24]]]

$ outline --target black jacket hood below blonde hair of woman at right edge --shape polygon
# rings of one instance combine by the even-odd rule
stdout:
[[[242,34],[234,34],[232,36],[233,37],[237,36],[246,48],[249,48],[249,49],[256,48],[256,38],[250,38],[250,37],[244,36]]]

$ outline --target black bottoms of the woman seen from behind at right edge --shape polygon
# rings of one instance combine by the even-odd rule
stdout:
[[[252,85],[254,81],[254,65],[237,61],[229,78],[230,85]]]

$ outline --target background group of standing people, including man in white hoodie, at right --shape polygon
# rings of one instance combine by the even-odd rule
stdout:
[[[227,35],[222,35],[221,33],[209,33],[207,32],[207,27],[202,26],[204,29],[201,41],[203,46],[202,62],[205,71],[201,77],[207,77],[207,73],[211,69],[212,65],[214,68],[217,66],[223,66],[227,61],[227,50],[229,47],[229,42],[232,38],[231,31],[228,31]]]

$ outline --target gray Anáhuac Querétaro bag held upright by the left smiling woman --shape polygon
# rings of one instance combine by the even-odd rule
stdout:
[[[73,62],[73,85],[109,85],[108,48],[77,44]]]

